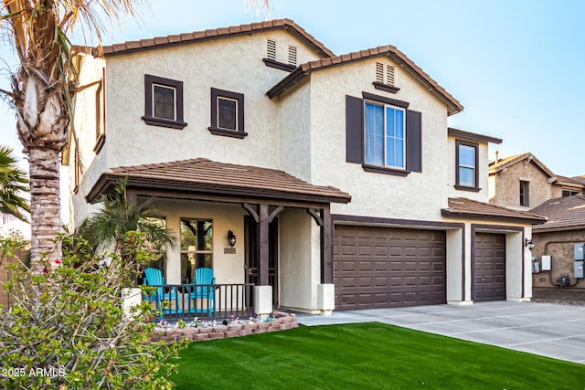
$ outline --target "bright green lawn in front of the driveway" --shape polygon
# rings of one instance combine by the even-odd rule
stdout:
[[[191,343],[177,389],[585,389],[585,365],[378,322]]]

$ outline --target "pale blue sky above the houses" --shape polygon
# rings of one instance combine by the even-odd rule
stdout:
[[[142,22],[112,28],[104,44],[265,19],[245,0],[152,0]],[[580,0],[271,0],[269,18],[293,19],[343,54],[394,45],[463,103],[449,125],[531,152],[556,174],[585,174],[585,2]],[[82,43],[74,39],[74,43]],[[0,86],[15,60],[0,45]],[[0,143],[21,149],[0,103]]]

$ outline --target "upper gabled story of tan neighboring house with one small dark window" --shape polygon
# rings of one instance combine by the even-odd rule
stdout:
[[[489,163],[490,204],[527,211],[548,199],[583,194],[585,183],[553,174],[532,153]]]

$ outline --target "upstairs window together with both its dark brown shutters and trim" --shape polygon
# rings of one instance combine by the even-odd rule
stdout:
[[[346,162],[367,172],[422,172],[422,114],[409,102],[362,92],[346,96]]]

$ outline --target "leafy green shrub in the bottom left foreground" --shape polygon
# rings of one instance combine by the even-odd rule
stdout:
[[[56,264],[42,260],[41,275],[21,261],[7,266],[11,277],[4,288],[14,304],[0,309],[5,386],[171,388],[167,378],[176,371],[171,358],[185,343],[148,342],[154,331],[148,302],[130,315],[122,310],[122,288],[152,259],[141,235],[129,233],[125,253],[109,254],[108,265],[82,238],[65,239],[62,248]]]

